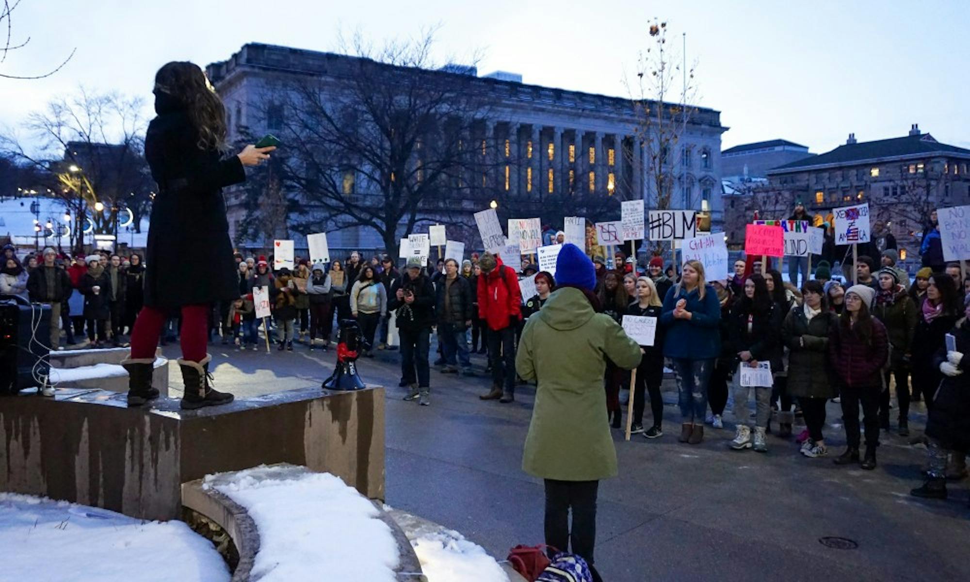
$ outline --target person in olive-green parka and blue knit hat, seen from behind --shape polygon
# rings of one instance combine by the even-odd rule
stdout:
[[[591,569],[599,480],[617,474],[603,414],[606,359],[632,370],[641,355],[620,324],[597,312],[596,284],[590,259],[565,244],[556,261],[556,291],[529,318],[515,358],[519,376],[537,382],[522,469],[545,482],[546,544],[568,551],[571,541],[572,553]]]

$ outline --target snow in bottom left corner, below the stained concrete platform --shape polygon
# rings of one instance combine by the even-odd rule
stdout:
[[[229,568],[182,522],[0,493],[0,580],[224,582]]]

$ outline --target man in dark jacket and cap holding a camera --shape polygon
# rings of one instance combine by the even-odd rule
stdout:
[[[409,257],[401,278],[391,284],[388,309],[397,311],[401,369],[409,392],[405,401],[431,404],[428,350],[435,324],[435,287],[421,272],[421,257]]]

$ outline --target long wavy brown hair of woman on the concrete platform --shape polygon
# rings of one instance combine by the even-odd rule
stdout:
[[[226,108],[199,65],[173,61],[155,74],[154,92],[185,107],[199,133],[199,149],[222,149],[226,142]]]

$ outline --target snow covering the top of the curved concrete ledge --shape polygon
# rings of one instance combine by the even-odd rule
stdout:
[[[329,473],[274,478],[273,468],[207,476],[204,487],[241,504],[259,530],[252,577],[261,582],[394,582],[400,554],[373,503]],[[262,576],[262,577],[260,577]]]

